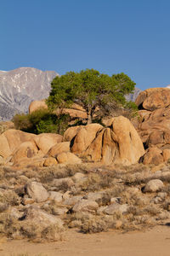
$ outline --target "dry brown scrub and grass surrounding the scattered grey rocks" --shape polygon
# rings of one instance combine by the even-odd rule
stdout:
[[[33,241],[59,241],[63,239],[63,230],[57,226],[41,227],[28,221],[12,218],[10,209],[15,207],[22,212],[22,197],[25,195],[25,185],[30,181],[37,181],[53,191],[64,193],[69,190],[70,195],[81,195],[88,198],[89,192],[102,191],[102,196],[96,199],[99,207],[107,207],[111,199],[119,198],[118,203],[127,204],[127,212],[116,212],[107,215],[104,212],[72,212],[72,206],[65,206],[63,202],[48,201],[37,204],[44,211],[56,215],[58,208],[67,207],[67,214],[59,216],[65,223],[65,228],[77,228],[83,233],[94,233],[110,229],[142,230],[161,224],[170,218],[170,166],[161,167],[160,172],[152,172],[152,166],[142,164],[133,166],[93,166],[82,164],[77,166],[51,166],[37,169],[23,168],[16,170],[12,167],[0,167],[0,235],[15,239],[27,238]],[[85,179],[81,183],[74,182],[69,186],[63,182],[54,186],[54,179],[70,177],[82,172]],[[150,179],[160,178],[165,184],[163,193],[142,193],[142,188]],[[74,179],[73,179],[74,180]]]

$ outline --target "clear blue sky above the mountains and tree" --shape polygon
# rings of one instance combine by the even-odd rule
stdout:
[[[170,1],[0,0],[0,70],[127,73],[170,84]]]

